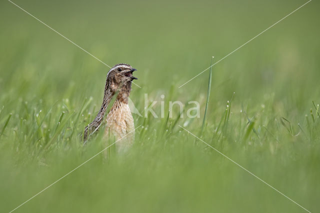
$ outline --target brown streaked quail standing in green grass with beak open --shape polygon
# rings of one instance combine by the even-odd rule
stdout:
[[[118,63],[110,68],[106,76],[101,108],[93,121],[84,129],[84,143],[87,141],[88,136],[99,129],[101,124],[106,123],[104,138],[107,140],[110,136],[114,136],[117,152],[125,152],[132,146],[134,141],[134,121],[128,105],[128,98],[132,80],[138,79],[132,76],[132,72],[135,70],[135,68],[126,63]],[[114,95],[116,97],[113,105],[104,120],[106,109]]]

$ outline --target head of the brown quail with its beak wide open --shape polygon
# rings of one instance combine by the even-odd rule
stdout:
[[[109,86],[111,86],[111,88],[114,90],[121,88],[131,89],[132,80],[138,79],[132,75],[132,72],[135,70],[135,68],[132,68],[132,66],[126,63],[114,65],[107,74]]]

